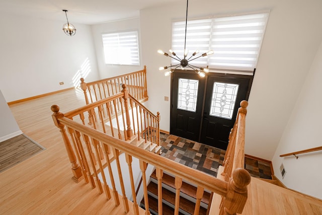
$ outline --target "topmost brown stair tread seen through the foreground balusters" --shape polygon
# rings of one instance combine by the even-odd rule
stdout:
[[[151,177],[157,180],[155,170],[151,174]],[[175,178],[170,176],[170,175],[168,175],[168,174],[166,174],[166,173],[163,174],[162,183],[164,183],[164,184],[176,189]],[[188,183],[183,181],[180,191],[182,193],[185,193],[185,194],[193,197],[193,198],[196,198],[197,187],[195,187],[195,186],[193,186],[191,184],[188,184]],[[210,193],[204,192],[201,201],[203,203],[205,203],[205,204],[209,204],[210,195],[211,195]]]

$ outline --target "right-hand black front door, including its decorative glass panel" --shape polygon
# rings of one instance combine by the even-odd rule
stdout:
[[[248,99],[249,79],[208,77],[200,142],[226,150],[239,103]]]

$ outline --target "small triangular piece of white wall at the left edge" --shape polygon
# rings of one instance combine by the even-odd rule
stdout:
[[[22,134],[15,117],[0,90],[0,142]]]

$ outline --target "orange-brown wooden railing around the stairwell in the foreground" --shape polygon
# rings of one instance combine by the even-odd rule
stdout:
[[[136,200],[135,194],[135,185],[133,179],[133,167],[132,160],[138,159],[139,169],[142,173],[142,182],[143,182],[143,190],[144,190],[144,204],[145,208],[149,208],[148,198],[147,198],[147,184],[146,184],[146,166],[147,164],[153,165],[156,168],[156,176],[158,180],[158,199],[162,201],[162,178],[163,172],[169,172],[175,175],[175,186],[177,190],[176,194],[176,204],[175,204],[175,214],[178,214],[179,211],[179,202],[180,202],[180,189],[182,185],[182,180],[187,180],[190,183],[194,184],[198,187],[196,196],[203,195],[203,190],[207,189],[211,192],[217,193],[223,197],[221,214],[236,214],[241,213],[243,210],[246,200],[247,200],[247,185],[250,183],[250,174],[244,170],[243,162],[236,162],[236,164],[232,164],[232,161],[235,158],[240,158],[243,156],[244,146],[237,146],[238,144],[243,144],[244,140],[240,139],[244,136],[240,133],[245,132],[245,115],[246,115],[246,106],[242,103],[241,109],[239,109],[240,113],[238,113],[238,127],[236,131],[236,137],[231,136],[231,138],[236,139],[235,141],[235,153],[230,157],[234,157],[234,159],[229,160],[226,158],[225,171],[226,175],[231,175],[227,180],[221,180],[210,176],[206,173],[200,172],[198,170],[189,168],[158,154],[151,153],[150,151],[144,150],[140,147],[137,147],[136,144],[130,144],[128,128],[126,132],[124,132],[124,136],[127,136],[127,139],[115,138],[113,135],[107,134],[104,132],[103,127],[104,123],[101,123],[101,129],[98,129],[98,126],[94,122],[94,112],[98,111],[100,114],[101,121],[103,119],[103,108],[105,112],[107,112],[107,118],[111,120],[111,116],[109,112],[111,112],[111,106],[114,107],[114,113],[117,115],[118,106],[119,109],[126,109],[126,102],[122,101],[126,99],[126,88],[123,85],[123,91],[120,94],[114,95],[111,98],[103,99],[101,101],[94,102],[92,104],[86,105],[82,108],[78,108],[76,110],[70,111],[68,113],[59,112],[59,107],[57,105],[53,105],[51,110],[54,112],[52,114],[52,118],[54,120],[54,124],[60,129],[65,148],[67,151],[67,155],[69,161],[71,163],[71,169],[73,173],[73,179],[78,182],[85,179],[85,183],[90,183],[92,188],[97,188],[100,194],[105,193],[107,200],[113,197],[113,202],[115,205],[120,204],[120,199],[118,192],[116,190],[114,178],[118,177],[121,186],[122,192],[122,204],[125,212],[129,211],[129,205],[127,196],[124,190],[124,183],[128,183],[131,185],[132,197],[133,197],[133,211],[135,214],[138,214],[138,203]],[[132,99],[132,100],[131,100]],[[130,103],[137,102],[130,97]],[[247,103],[247,102],[246,102]],[[112,105],[113,104],[113,105]],[[106,108],[107,107],[107,108]],[[145,110],[142,108],[142,110]],[[144,112],[144,111],[143,111]],[[244,116],[243,115],[244,113]],[[123,113],[123,112],[122,112]],[[88,114],[89,119],[92,120],[91,125],[86,122],[86,114]],[[129,111],[127,109],[126,114],[129,115]],[[124,114],[120,114],[122,118],[124,118]],[[152,117],[152,116],[150,116]],[[116,117],[118,118],[118,117]],[[126,118],[130,118],[127,117]],[[159,117],[157,117],[159,119]],[[123,120],[124,121],[124,120]],[[148,126],[152,126],[153,120],[150,120],[150,124],[146,123]],[[244,122],[243,122],[244,121]],[[112,123],[111,123],[112,124]],[[124,122],[123,122],[124,124]],[[157,123],[158,124],[158,123]],[[243,128],[244,126],[244,128]],[[125,126],[124,126],[125,127]],[[111,128],[113,130],[113,128]],[[147,127],[145,127],[145,131],[147,132]],[[68,130],[68,133],[66,132]],[[130,127],[131,130],[131,127]],[[158,128],[150,128],[150,133],[158,132]],[[151,131],[152,130],[152,131]],[[118,131],[119,132],[119,131]],[[119,132],[120,133],[120,132]],[[140,132],[142,133],[142,131]],[[234,133],[234,132],[232,132]],[[232,134],[233,135],[233,134]],[[144,136],[147,136],[144,135]],[[150,135],[153,136],[153,135]],[[157,139],[157,136],[151,137],[150,139]],[[70,141],[71,140],[71,141]],[[147,140],[146,140],[147,141]],[[231,147],[232,148],[232,147]],[[126,158],[126,163],[128,166],[129,178],[123,178],[120,164],[120,153],[124,153]],[[240,158],[241,159],[241,158]],[[111,160],[114,160],[117,165],[117,174],[113,172],[111,168]],[[231,161],[231,162],[228,162]],[[243,157],[244,160],[244,157]],[[233,167],[232,167],[233,166]],[[107,182],[107,175],[104,169],[108,168],[109,179],[111,180],[111,190]],[[235,168],[235,169],[233,169]],[[101,179],[99,177],[101,175]],[[95,199],[93,199],[95,201]],[[199,201],[199,200],[198,200]],[[160,201],[159,201],[160,202]],[[197,202],[194,214],[198,214],[200,203]],[[162,214],[162,204],[158,204],[158,213]],[[219,210],[219,208],[218,208]],[[145,210],[145,214],[149,214],[148,210]]]

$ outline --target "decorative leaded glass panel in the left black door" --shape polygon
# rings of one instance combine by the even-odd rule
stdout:
[[[178,109],[196,112],[198,99],[198,80],[178,80]]]

